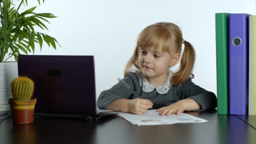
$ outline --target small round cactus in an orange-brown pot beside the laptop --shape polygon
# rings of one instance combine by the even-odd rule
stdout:
[[[28,77],[19,76],[11,82],[13,99],[8,99],[14,124],[30,124],[33,122],[36,98],[34,82]]]

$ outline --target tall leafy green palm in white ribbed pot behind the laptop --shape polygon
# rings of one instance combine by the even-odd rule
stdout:
[[[37,0],[40,5],[40,0]],[[44,0],[43,0],[44,2]],[[0,113],[10,111],[8,98],[11,98],[11,80],[18,77],[17,57],[19,54],[35,52],[35,44],[43,48],[43,42],[56,49],[57,40],[39,29],[47,29],[45,23],[48,18],[56,18],[51,13],[35,13],[35,7],[19,12],[22,5],[27,5],[27,0],[21,0],[15,7],[13,0],[0,0]],[[15,61],[7,61],[14,57]]]

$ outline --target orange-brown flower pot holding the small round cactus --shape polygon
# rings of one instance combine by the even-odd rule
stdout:
[[[14,124],[30,124],[33,122],[34,109],[37,99],[31,98],[27,101],[8,99]]]

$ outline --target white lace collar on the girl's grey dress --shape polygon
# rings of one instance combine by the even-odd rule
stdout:
[[[171,89],[171,86],[172,86],[171,77],[173,75],[172,71],[169,71],[169,75],[168,75],[167,80],[161,86],[155,86],[155,85],[152,85],[151,83],[149,83],[149,81],[147,80],[147,77],[144,76],[141,71],[136,70],[134,72],[139,77],[139,82],[141,84],[142,91],[144,91],[146,93],[149,93],[149,92],[153,91],[154,89],[156,89],[157,93],[165,94],[165,93],[168,93],[168,91]]]

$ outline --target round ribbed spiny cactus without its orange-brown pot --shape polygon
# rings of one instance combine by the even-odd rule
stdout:
[[[29,100],[34,92],[34,82],[28,77],[19,76],[11,82],[11,93],[18,101]]]

